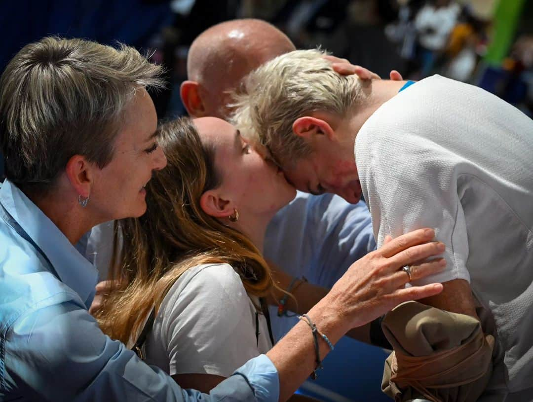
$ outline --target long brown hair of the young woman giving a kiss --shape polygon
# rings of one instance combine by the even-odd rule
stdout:
[[[160,126],[159,145],[168,164],[147,185],[146,214],[116,222],[115,250],[118,237],[123,244],[110,270],[115,289],[96,314],[102,331],[124,343],[193,266],[230,264],[254,296],[265,296],[273,286],[268,265],[248,237],[200,208],[200,196],[221,179],[214,149],[200,141],[191,120]]]

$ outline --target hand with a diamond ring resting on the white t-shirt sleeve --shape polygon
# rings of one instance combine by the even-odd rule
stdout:
[[[364,325],[390,311],[399,303],[434,296],[442,284],[405,288],[407,282],[441,272],[446,267],[443,258],[432,259],[444,252],[444,244],[434,242],[433,229],[418,229],[387,238],[376,251],[354,262],[337,281],[326,298],[347,321],[350,328]],[[409,266],[409,275],[401,268]]]

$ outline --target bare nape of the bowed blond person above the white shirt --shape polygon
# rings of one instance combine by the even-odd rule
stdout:
[[[365,122],[378,110],[385,102],[391,100],[398,94],[400,88],[405,85],[407,81],[391,81],[376,79],[372,80],[367,89],[368,94],[362,105],[357,107],[357,110],[351,118],[346,122],[348,132],[352,135],[352,140],[355,141],[357,133]]]

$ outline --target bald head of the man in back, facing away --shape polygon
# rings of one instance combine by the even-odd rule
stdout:
[[[181,88],[185,108],[193,117],[226,118],[227,92],[261,64],[293,50],[283,32],[262,20],[231,20],[205,30],[189,50],[189,81]]]

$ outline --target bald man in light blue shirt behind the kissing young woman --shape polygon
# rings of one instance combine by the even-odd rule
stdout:
[[[256,19],[231,20],[200,34],[192,43],[187,59],[188,80],[181,85],[181,99],[191,117],[214,116],[228,119],[230,92],[261,64],[295,50],[290,39],[270,23]],[[335,69],[361,78],[374,73],[333,58]],[[401,79],[393,71],[391,79]],[[278,212],[265,236],[265,257],[288,274],[278,272],[276,280],[288,289],[293,278],[305,277],[311,284],[288,289],[298,299],[299,312],[305,312],[326,294],[353,261],[376,247],[370,214],[364,202],[349,204],[332,194],[312,196],[298,192],[296,198]],[[276,269],[276,268],[274,268]],[[282,294],[279,295],[282,297]],[[289,307],[296,307],[290,299]],[[282,335],[298,321],[296,317],[277,319],[271,307],[274,336]],[[370,329],[373,331],[370,331]],[[388,346],[379,322],[350,333],[353,338]],[[372,336],[371,336],[372,335]]]

